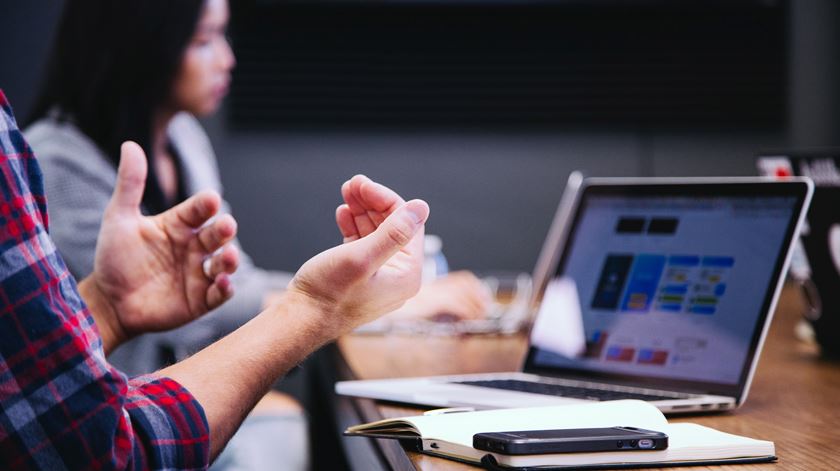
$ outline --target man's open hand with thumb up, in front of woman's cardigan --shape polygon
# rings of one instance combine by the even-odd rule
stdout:
[[[140,146],[122,145],[94,272],[80,285],[106,351],[134,335],[183,325],[233,295],[229,274],[239,254],[226,244],[236,235],[236,222],[224,215],[205,226],[219,210],[219,195],[202,192],[162,214],[143,216],[147,165]]]

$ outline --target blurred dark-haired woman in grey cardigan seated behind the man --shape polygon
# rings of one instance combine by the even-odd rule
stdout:
[[[123,141],[140,144],[150,160],[146,212],[159,213],[201,189],[221,190],[213,149],[195,116],[216,111],[227,93],[235,65],[227,22],[227,0],[66,2],[26,135],[41,159],[51,235],[77,277],[92,270]],[[260,269],[242,255],[231,301],[176,331],[135,339],[110,360],[130,374],[148,373],[247,321],[291,275]],[[410,315],[446,311],[475,317],[486,304],[475,277],[460,273],[429,285],[406,309]],[[238,439],[257,428],[255,436],[271,440],[269,456],[286,453],[283,469],[306,466],[305,455],[292,456],[306,448],[298,438],[301,433],[305,438],[299,407],[289,398],[264,402],[254,415],[268,409],[275,418],[288,419],[274,421],[285,431],[265,433],[271,421],[263,420],[265,414],[252,417],[215,466],[231,456],[264,456],[253,450],[258,439]],[[282,440],[288,450],[276,446],[278,433],[292,437]]]

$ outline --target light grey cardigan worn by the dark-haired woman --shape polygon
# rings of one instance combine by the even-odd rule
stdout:
[[[191,115],[177,115],[167,130],[177,149],[186,193],[222,191],[216,157],[204,130]],[[114,191],[116,169],[105,154],[72,123],[45,118],[26,129],[44,172],[50,235],[68,268],[82,279],[93,271],[96,237],[105,206]],[[223,201],[223,211],[229,206]],[[149,373],[174,355],[181,359],[236,329],[256,314],[263,295],[282,289],[291,274],[256,267],[240,250],[233,277],[234,297],[219,309],[186,326],[142,335],[121,346],[109,360],[128,374]]]

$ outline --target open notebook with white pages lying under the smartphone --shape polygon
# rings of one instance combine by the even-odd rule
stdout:
[[[503,455],[472,447],[480,432],[561,428],[637,427],[664,432],[668,448],[589,453]],[[499,467],[639,467],[651,464],[713,464],[775,460],[773,442],[724,433],[690,423],[669,424],[656,407],[636,400],[583,405],[440,413],[356,425],[347,435],[418,439],[423,453],[480,463],[487,455]]]

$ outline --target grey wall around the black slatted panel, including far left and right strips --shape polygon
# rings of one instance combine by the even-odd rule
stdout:
[[[45,0],[0,3],[0,87],[20,115],[31,103],[58,8],[59,2]],[[792,3],[792,121],[777,130],[277,126],[257,132],[231,129],[224,111],[206,124],[241,239],[264,266],[294,270],[337,243],[333,211],[339,185],[366,173],[406,196],[429,200],[429,231],[443,236],[453,267],[527,271],[572,170],[603,176],[749,175],[759,149],[791,140],[802,146],[837,143],[840,77],[836,67],[825,67],[840,57],[830,34],[840,24],[836,10],[834,0]],[[813,15],[817,19],[808,19]],[[818,135],[810,135],[816,128]]]

